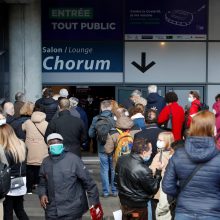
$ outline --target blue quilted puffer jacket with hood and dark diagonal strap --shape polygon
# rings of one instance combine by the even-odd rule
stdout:
[[[198,164],[204,163],[179,193],[176,213],[220,216],[219,161],[213,137],[188,137],[185,147],[176,150],[162,181],[163,191],[170,196],[177,196],[178,185],[183,184]]]

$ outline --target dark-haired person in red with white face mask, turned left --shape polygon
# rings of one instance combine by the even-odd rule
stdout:
[[[190,127],[192,117],[199,111],[199,107],[201,105],[199,93],[196,91],[190,91],[188,102],[191,104],[189,108],[189,116],[187,119],[187,128]]]

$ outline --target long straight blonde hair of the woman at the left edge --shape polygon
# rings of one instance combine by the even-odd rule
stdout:
[[[6,152],[12,155],[16,163],[25,160],[25,144],[17,138],[13,128],[8,124],[0,126],[0,144]]]

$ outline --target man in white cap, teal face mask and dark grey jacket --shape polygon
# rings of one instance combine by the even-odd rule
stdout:
[[[80,220],[90,206],[99,206],[99,192],[82,160],[64,150],[63,137],[47,137],[49,156],[40,169],[39,198],[47,220]],[[86,197],[88,196],[88,201]],[[80,198],[80,199],[79,199]]]

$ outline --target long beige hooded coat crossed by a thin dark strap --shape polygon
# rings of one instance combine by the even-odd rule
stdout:
[[[27,164],[40,166],[43,159],[48,155],[48,146],[44,141],[48,122],[45,121],[46,114],[43,112],[33,112],[31,119],[22,124],[22,129],[26,131],[25,144],[27,146]],[[41,134],[37,128],[41,131]]]

